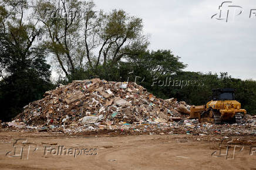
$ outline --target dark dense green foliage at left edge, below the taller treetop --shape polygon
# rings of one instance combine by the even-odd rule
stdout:
[[[11,120],[21,113],[22,107],[43,97],[45,91],[52,89],[50,66],[46,64],[44,49],[31,49],[21,57],[21,49],[0,37],[0,119]]]

